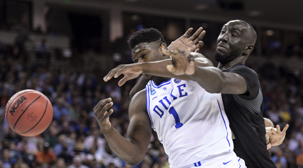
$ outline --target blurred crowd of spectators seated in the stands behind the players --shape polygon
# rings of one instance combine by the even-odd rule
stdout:
[[[104,82],[95,69],[53,67],[33,62],[29,57],[24,60],[26,51],[20,50],[25,54],[16,54],[0,45],[0,167],[130,168],[108,147],[92,110],[98,101],[111,97],[114,113],[110,121],[126,137],[129,92],[135,80],[119,87],[117,79]],[[36,57],[40,56],[36,53]],[[290,125],[284,143],[269,150],[272,160],[278,168],[303,167],[300,77],[288,67],[276,67],[270,61],[247,65],[259,74],[264,117],[282,129]],[[23,89],[44,93],[53,105],[52,123],[35,137],[16,134],[4,118],[8,99]],[[144,160],[136,168],[168,167],[168,156],[154,132]]]

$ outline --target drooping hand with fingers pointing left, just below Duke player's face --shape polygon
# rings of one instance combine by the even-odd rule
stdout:
[[[140,63],[119,65],[109,71],[109,73],[103,78],[103,80],[107,82],[109,79],[112,79],[112,77],[118,78],[118,76],[123,74],[124,77],[118,82],[118,85],[122,86],[126,81],[135,79],[143,72],[143,68],[140,65]]]

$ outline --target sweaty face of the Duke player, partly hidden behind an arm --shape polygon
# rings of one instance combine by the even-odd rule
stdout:
[[[163,44],[161,40],[151,43],[139,43],[132,48],[132,60],[135,63],[142,63],[169,59],[168,56],[163,56],[161,47],[166,48],[166,45]],[[147,80],[153,81],[159,81],[162,79],[162,77],[147,74],[142,74],[142,76]]]

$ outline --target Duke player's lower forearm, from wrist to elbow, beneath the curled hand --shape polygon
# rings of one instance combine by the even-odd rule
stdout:
[[[111,150],[127,164],[135,166],[143,160],[139,147],[123,137],[115,128],[111,127],[110,130],[102,132]]]

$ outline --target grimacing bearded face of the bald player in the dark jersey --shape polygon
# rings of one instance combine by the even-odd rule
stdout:
[[[243,55],[250,42],[250,31],[248,25],[241,21],[235,20],[226,23],[217,39],[215,60],[225,65]]]

